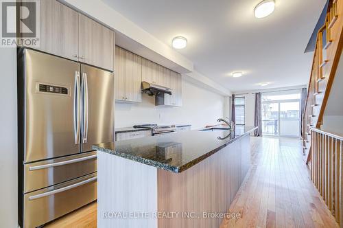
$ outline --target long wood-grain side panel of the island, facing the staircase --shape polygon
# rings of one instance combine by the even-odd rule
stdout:
[[[158,170],[158,212],[180,213],[159,218],[158,228],[220,227],[223,219],[211,216],[228,212],[249,168],[247,135],[185,172]]]

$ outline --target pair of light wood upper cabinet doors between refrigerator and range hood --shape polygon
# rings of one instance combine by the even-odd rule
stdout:
[[[142,58],[115,47],[115,100],[141,102]]]

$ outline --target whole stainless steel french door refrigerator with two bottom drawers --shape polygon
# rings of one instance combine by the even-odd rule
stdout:
[[[114,141],[113,73],[18,49],[19,224],[37,227],[97,198],[92,144]]]

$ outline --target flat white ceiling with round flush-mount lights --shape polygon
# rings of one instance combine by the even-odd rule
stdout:
[[[304,50],[326,2],[276,0],[272,15],[255,19],[260,0],[102,1],[167,45],[185,36],[178,52],[234,92],[307,84],[313,53]],[[244,76],[232,78],[233,71]]]

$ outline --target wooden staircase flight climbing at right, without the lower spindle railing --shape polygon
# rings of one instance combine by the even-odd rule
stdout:
[[[343,0],[330,0],[325,24],[317,35],[303,115],[303,154],[311,160],[311,128],[322,125],[335,71],[343,47]]]

